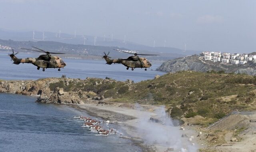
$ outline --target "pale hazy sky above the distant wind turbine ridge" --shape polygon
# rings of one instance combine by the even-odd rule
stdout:
[[[256,51],[256,0],[0,0],[0,28],[153,46]],[[0,36],[1,37],[1,36]]]

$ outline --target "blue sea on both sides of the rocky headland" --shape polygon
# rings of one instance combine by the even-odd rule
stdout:
[[[37,57],[38,54],[17,54],[19,58]],[[160,64],[144,69],[126,70],[120,64],[108,65],[104,60],[78,60],[63,58],[67,66],[57,69],[36,70],[32,64],[12,64],[6,53],[0,53],[0,79],[36,80],[47,77],[113,78],[139,82],[153,79]],[[152,69],[152,70],[151,70]],[[82,127],[82,121],[73,116],[90,116],[67,105],[35,102],[32,96],[0,93],[0,151],[2,152],[140,152],[142,149],[131,140],[118,135],[96,136]],[[90,116],[92,117],[92,116]],[[93,117],[92,117],[93,118]],[[94,118],[100,120],[100,118]],[[126,133],[120,126],[103,126]]]

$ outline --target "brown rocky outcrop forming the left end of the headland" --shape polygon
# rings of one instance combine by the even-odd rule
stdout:
[[[0,80],[0,92],[38,96],[37,102],[54,104],[83,104],[90,100],[103,100],[104,92],[112,84],[126,85],[111,79],[45,78],[39,80]],[[119,85],[118,85],[119,86]]]

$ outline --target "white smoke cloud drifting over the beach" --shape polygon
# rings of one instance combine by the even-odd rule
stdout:
[[[136,104],[135,108],[142,111],[139,104]],[[174,148],[175,152],[196,152],[196,146],[192,146],[188,138],[181,137],[180,128],[173,125],[173,120],[166,114],[164,106],[157,109],[155,113],[157,119],[162,123],[150,121],[150,116],[140,116],[139,118],[138,133],[147,144]]]

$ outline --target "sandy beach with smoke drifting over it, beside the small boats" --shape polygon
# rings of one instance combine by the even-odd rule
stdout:
[[[86,110],[90,115],[109,120],[120,125],[128,138],[143,148],[144,151],[196,152],[198,145],[196,132],[191,127],[173,126],[162,106],[134,104],[80,104],[72,107]],[[161,122],[150,121],[156,118]]]

